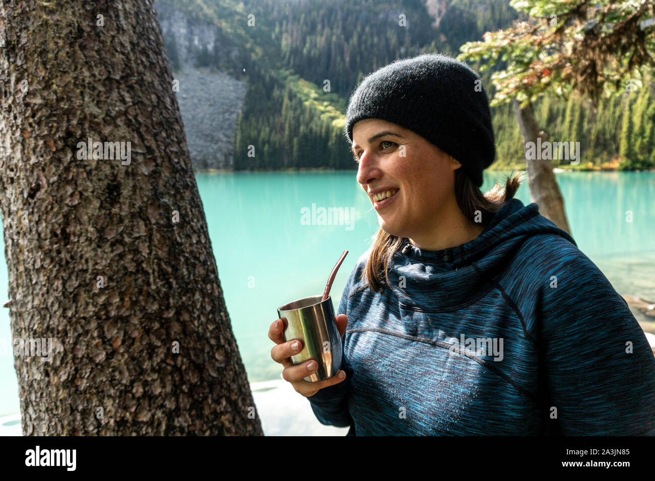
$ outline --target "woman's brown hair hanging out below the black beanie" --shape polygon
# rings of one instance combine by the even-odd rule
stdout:
[[[483,225],[487,225],[498,209],[514,197],[514,194],[521,185],[521,175],[518,172],[508,175],[505,187],[500,187],[500,182],[483,194],[471,179],[464,173],[464,169],[455,170],[455,198],[457,205],[468,219],[476,217],[476,211],[481,213]],[[377,231],[371,255],[366,261],[366,267],[362,276],[368,280],[369,287],[378,292],[382,288],[381,279],[384,276],[386,284],[389,284],[388,269],[392,255],[402,245],[402,238],[384,232],[382,228]]]

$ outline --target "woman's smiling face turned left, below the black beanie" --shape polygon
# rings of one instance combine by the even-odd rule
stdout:
[[[357,181],[369,194],[380,227],[394,236],[425,238],[457,208],[457,160],[411,130],[367,118],[352,129]],[[386,200],[371,194],[390,191]],[[383,194],[384,195],[384,194]]]

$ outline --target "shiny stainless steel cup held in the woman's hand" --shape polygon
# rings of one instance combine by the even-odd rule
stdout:
[[[299,339],[303,349],[291,356],[297,366],[309,359],[318,364],[312,374],[303,378],[307,382],[324,381],[341,369],[343,347],[334,315],[331,296],[321,302],[323,295],[303,297],[278,308],[278,317],[286,318],[284,340]]]

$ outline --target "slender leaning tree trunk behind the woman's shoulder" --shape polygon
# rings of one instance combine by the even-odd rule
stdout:
[[[528,142],[534,142],[536,145],[540,132],[532,103],[521,109],[519,101],[514,99],[513,102],[521,135],[523,135],[524,149]],[[542,134],[543,139],[544,135]],[[567,221],[564,210],[564,199],[553,173],[553,163],[550,159],[528,159],[527,167],[530,197],[532,202],[539,205],[539,213],[570,234],[569,221]]]

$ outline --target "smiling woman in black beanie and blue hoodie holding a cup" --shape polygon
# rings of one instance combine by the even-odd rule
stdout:
[[[271,357],[324,424],[348,435],[655,435],[655,359],[643,330],[567,232],[483,195],[495,158],[476,73],[438,54],[398,60],[350,98],[357,180],[379,217],[339,304],[343,372],[275,321]],[[347,330],[346,330],[347,323]],[[295,347],[295,350],[294,350]]]

